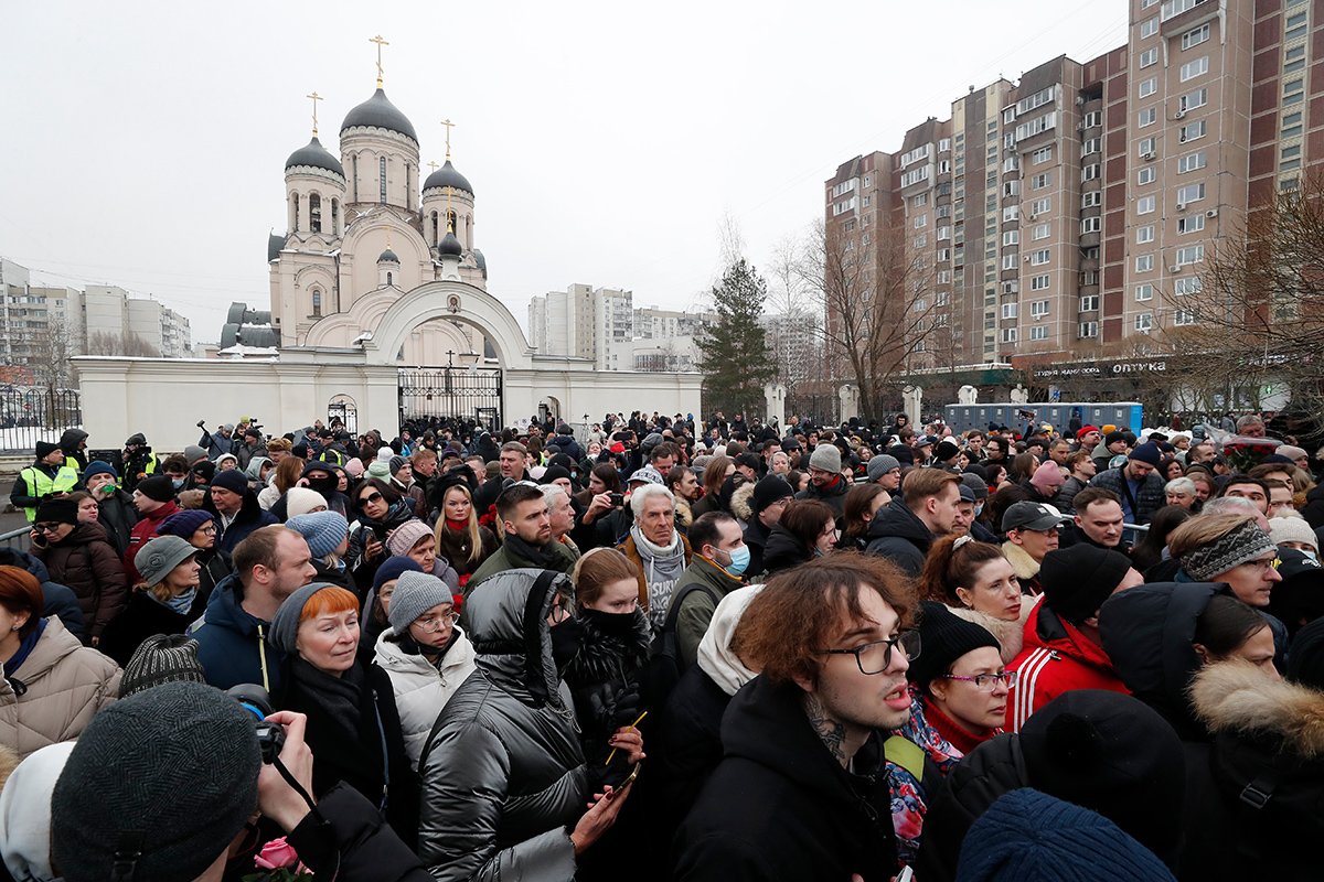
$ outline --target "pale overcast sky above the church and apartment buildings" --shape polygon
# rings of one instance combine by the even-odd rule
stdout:
[[[894,11],[895,9],[895,11]],[[904,12],[900,12],[904,9]],[[1124,0],[947,3],[7,3],[0,255],[36,280],[151,294],[214,341],[269,308],[266,234],[310,102],[339,153],[385,89],[422,161],[477,190],[489,288],[519,319],[573,282],[686,308],[719,263],[821,214],[822,181],[945,119],[970,85],[1124,41]]]

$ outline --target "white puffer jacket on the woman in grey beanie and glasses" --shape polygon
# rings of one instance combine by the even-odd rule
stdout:
[[[396,707],[400,710],[400,729],[405,737],[405,752],[409,755],[409,764],[418,768],[418,755],[422,754],[437,715],[459,684],[474,672],[474,644],[455,625],[455,641],[446,651],[438,670],[422,656],[401,649],[395,628],[387,628],[377,637],[373,661],[391,677],[391,689],[396,693]]]

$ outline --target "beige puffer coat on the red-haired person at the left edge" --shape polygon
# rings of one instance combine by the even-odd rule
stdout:
[[[78,738],[97,711],[115,701],[119,673],[119,665],[83,647],[52,616],[13,678],[0,676],[0,743],[24,758]]]

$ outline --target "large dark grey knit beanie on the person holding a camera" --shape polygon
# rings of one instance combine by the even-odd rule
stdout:
[[[225,693],[171,682],[117,701],[79,735],[50,797],[50,856],[66,882],[191,882],[257,808],[253,715]],[[94,795],[94,796],[91,796]]]

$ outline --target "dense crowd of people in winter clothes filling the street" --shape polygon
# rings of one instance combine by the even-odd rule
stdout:
[[[38,443],[0,878],[1317,878],[1324,463],[788,423]]]

